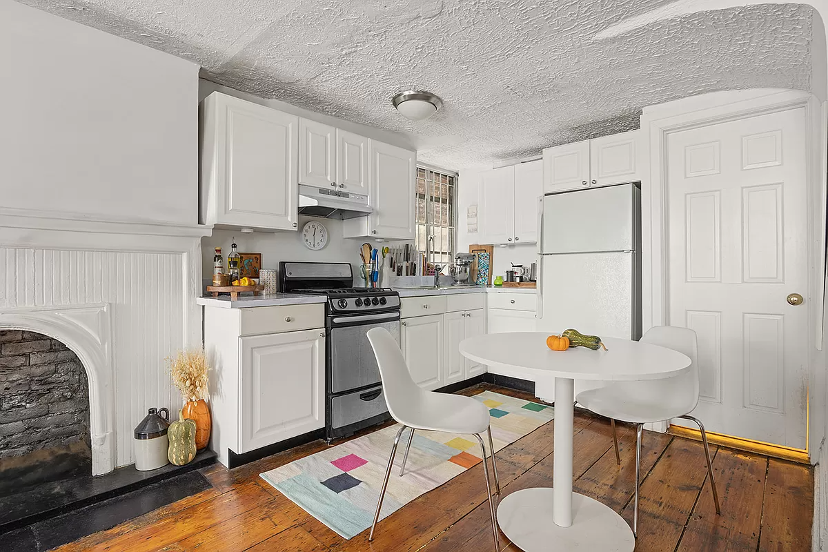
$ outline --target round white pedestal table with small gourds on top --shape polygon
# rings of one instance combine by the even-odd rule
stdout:
[[[632,552],[635,537],[609,506],[572,492],[575,380],[621,382],[673,377],[690,369],[690,358],[672,349],[628,339],[605,338],[609,349],[546,347],[549,334],[485,334],[460,343],[474,362],[535,382],[554,379],[555,425],[552,487],[513,492],[498,505],[498,526],[527,552],[590,550]]]

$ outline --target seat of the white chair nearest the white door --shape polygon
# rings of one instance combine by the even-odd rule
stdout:
[[[575,401],[595,414],[633,424],[648,424],[685,415],[684,405],[667,404],[658,397],[641,396],[629,386],[610,384],[598,389],[582,391]]]

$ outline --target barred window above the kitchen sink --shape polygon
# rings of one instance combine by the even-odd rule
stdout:
[[[457,175],[417,167],[417,251],[428,252],[428,262],[445,266],[455,256],[455,197]],[[434,239],[429,242],[429,237]]]

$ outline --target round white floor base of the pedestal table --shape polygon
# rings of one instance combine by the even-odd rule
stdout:
[[[551,487],[513,492],[498,506],[498,526],[526,552],[584,550],[633,552],[635,537],[626,521],[609,506],[572,494],[572,525],[556,526]]]

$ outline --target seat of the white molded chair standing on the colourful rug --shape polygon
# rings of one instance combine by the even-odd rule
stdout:
[[[478,434],[489,428],[489,407],[469,396],[422,393],[397,404],[394,418],[415,430]]]

